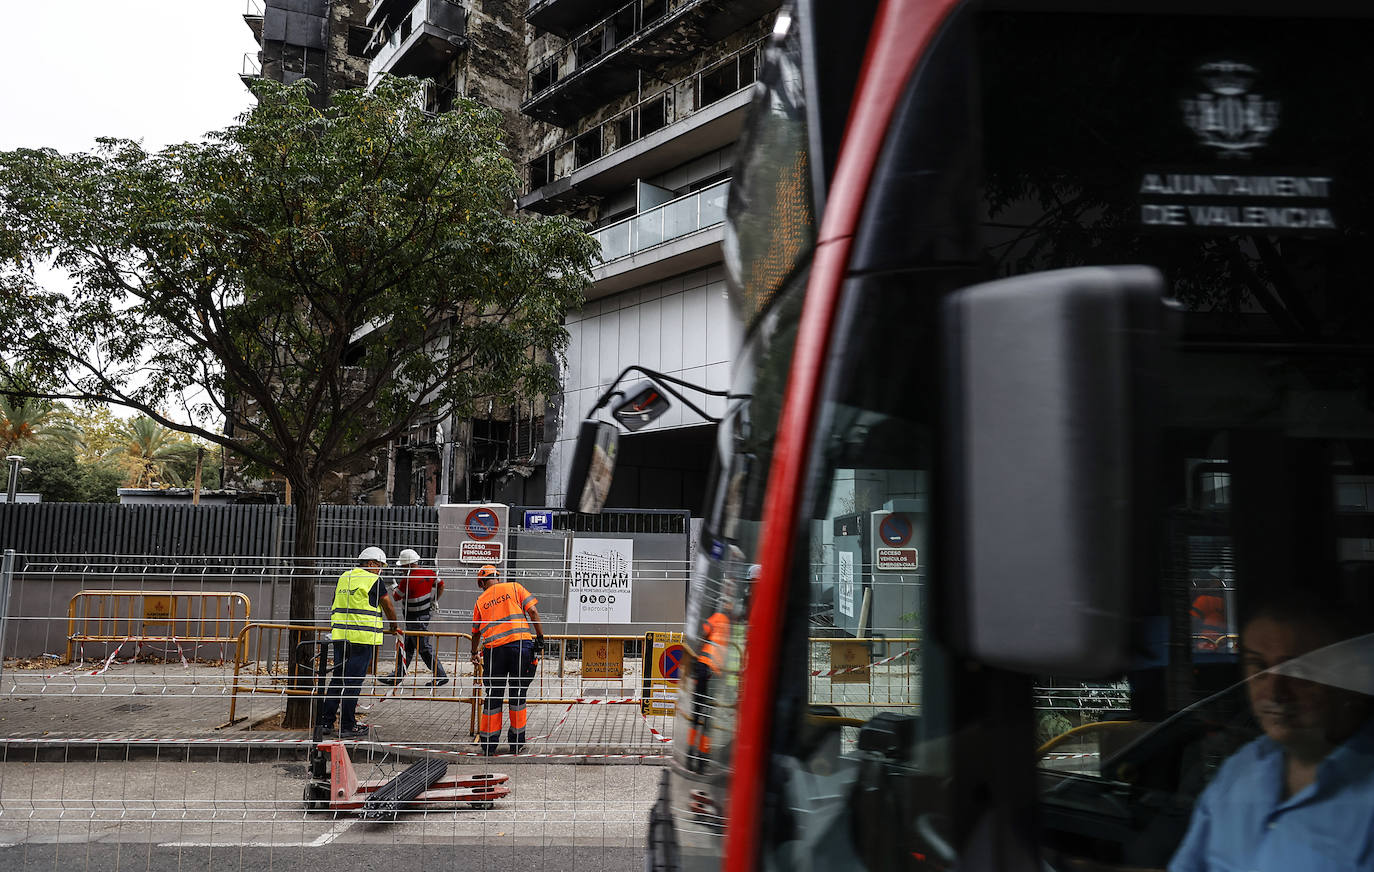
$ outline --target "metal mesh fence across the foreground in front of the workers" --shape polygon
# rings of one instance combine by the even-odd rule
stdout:
[[[315,592],[301,634],[326,636],[350,562],[23,555],[3,633],[0,868],[640,869],[673,732],[671,715],[638,704],[643,633],[662,622],[561,632],[559,562],[515,563],[510,577],[547,600],[523,753],[478,755],[475,590],[469,569],[438,567],[458,581],[423,634],[448,681],[434,684],[420,656],[400,684],[378,681],[398,665],[387,636],[360,696],[372,729],[342,747],[360,791],[423,758],[459,787],[372,821],[309,809],[315,743],[282,724],[284,700],[311,693],[286,674],[293,582]],[[636,573],[684,588],[687,567],[646,560]]]

